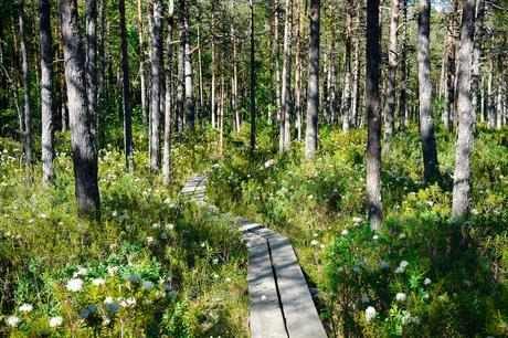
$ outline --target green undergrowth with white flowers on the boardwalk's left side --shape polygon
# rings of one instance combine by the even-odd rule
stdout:
[[[0,140],[0,336],[246,336],[236,225],[178,198],[182,180],[215,155],[215,135],[176,142],[168,187],[145,150],[125,172],[121,142],[108,140],[99,154],[100,222],[76,215],[67,134],[56,136],[47,189],[39,166],[32,186],[23,184],[21,145]],[[142,149],[141,133],[135,140]]]

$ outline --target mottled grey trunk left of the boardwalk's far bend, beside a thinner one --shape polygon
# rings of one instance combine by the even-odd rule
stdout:
[[[152,0],[154,19],[151,36],[151,135],[150,135],[150,168],[160,167],[160,54],[162,51],[161,18],[162,1]]]

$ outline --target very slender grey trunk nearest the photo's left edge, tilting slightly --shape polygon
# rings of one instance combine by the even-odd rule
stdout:
[[[32,167],[32,103],[30,99],[30,66],[27,53],[27,35],[24,32],[24,0],[19,0],[20,51],[21,71],[24,87],[24,159],[27,163],[27,179],[30,179]],[[29,182],[29,180],[27,181]]]

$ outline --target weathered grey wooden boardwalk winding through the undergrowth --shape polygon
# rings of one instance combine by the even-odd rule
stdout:
[[[182,194],[207,205],[205,182],[204,175],[192,178]],[[327,337],[289,240],[247,219],[236,220],[248,250],[252,337]]]

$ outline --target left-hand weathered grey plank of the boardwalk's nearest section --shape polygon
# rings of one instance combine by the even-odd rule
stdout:
[[[247,240],[247,284],[251,299],[251,334],[253,338],[287,337],[266,240]]]

